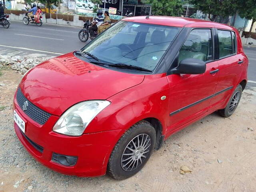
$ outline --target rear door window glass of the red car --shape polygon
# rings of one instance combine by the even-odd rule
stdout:
[[[234,53],[232,36],[230,31],[218,30],[220,58],[230,56]]]

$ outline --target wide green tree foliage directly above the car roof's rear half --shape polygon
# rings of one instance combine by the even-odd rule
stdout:
[[[214,21],[217,16],[230,16],[236,14],[239,0],[189,0],[190,4]]]

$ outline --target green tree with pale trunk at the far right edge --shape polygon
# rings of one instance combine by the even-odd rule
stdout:
[[[238,14],[241,18],[252,19],[250,27],[250,32],[252,32],[252,26],[256,22],[256,0],[240,0]]]

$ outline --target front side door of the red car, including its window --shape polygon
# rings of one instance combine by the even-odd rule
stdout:
[[[170,95],[168,130],[203,115],[210,106],[210,98],[218,82],[218,61],[212,61],[212,30],[194,29],[179,51],[179,61],[196,58],[206,62],[204,74],[171,74],[167,76]]]

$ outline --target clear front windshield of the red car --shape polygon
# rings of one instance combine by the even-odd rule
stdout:
[[[178,27],[120,21],[82,48],[101,62],[154,70]]]

